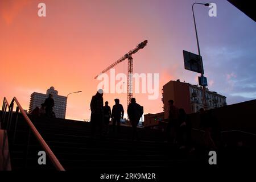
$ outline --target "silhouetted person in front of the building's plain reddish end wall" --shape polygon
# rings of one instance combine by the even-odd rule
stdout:
[[[177,135],[177,122],[178,122],[178,109],[174,105],[174,101],[168,101],[169,104],[169,115],[168,115],[168,125],[167,125],[167,140],[170,143],[176,142]]]

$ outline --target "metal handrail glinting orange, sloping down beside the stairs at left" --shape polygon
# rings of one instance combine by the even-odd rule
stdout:
[[[7,100],[6,98],[4,98],[4,102]],[[60,164],[59,160],[56,158],[56,156],[53,154],[51,148],[49,148],[48,144],[46,143],[46,141],[43,139],[43,137],[40,135],[40,133],[38,132],[38,130],[36,129],[36,127],[34,126],[34,124],[31,122],[30,118],[28,118],[27,114],[25,113],[25,111],[23,110],[22,106],[19,104],[19,101],[16,99],[16,97],[13,98],[13,100],[11,101],[11,104],[9,105],[9,111],[13,111],[13,104],[14,102],[16,103],[16,105],[18,106],[20,113],[23,115],[24,119],[26,120],[28,126],[30,127],[32,133],[35,135],[36,139],[38,139],[40,145],[43,147],[43,149],[46,151],[46,154],[48,155],[49,159],[51,160],[51,162],[53,163],[53,165],[55,166],[55,168],[59,171],[65,171],[65,169],[63,168],[63,166]],[[8,126],[8,125],[7,125]]]

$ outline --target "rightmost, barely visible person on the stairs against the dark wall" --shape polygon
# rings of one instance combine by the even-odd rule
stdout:
[[[208,149],[216,148],[216,145],[212,139],[211,131],[212,131],[212,119],[210,119],[209,114],[205,112],[204,108],[200,110],[200,127],[204,130],[204,145]]]

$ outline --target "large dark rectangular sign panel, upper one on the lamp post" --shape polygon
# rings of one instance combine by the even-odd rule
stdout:
[[[183,57],[185,69],[192,72],[202,73],[201,60],[199,55],[183,50]]]

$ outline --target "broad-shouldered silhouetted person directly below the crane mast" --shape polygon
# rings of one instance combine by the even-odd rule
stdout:
[[[142,110],[142,106],[140,106],[139,104],[136,103],[135,98],[131,98],[131,103],[128,106],[127,114],[129,116],[131,126],[133,127],[133,138],[132,139],[139,140],[138,133],[137,133],[137,126],[139,123],[139,119],[141,119],[141,117],[142,117],[143,110]]]

